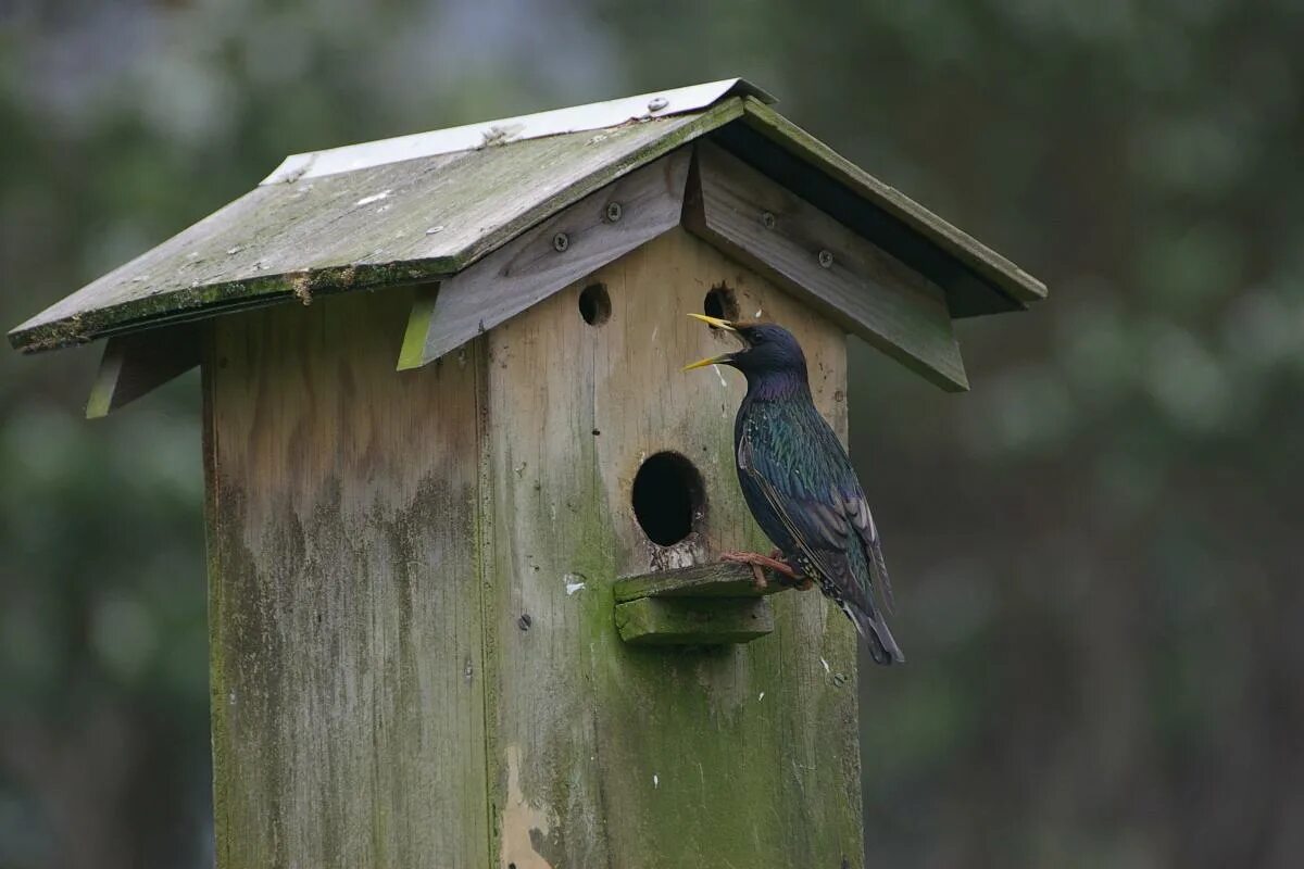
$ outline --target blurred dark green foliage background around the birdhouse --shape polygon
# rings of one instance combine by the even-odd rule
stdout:
[[[288,152],[728,76],[1051,287],[854,344],[895,866],[1304,865],[1304,3],[0,0],[0,322]],[[211,864],[198,383],[0,353],[0,866]]]

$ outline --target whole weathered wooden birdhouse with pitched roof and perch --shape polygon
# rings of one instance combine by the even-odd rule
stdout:
[[[848,334],[965,390],[1045,288],[772,102],[291,156],[10,334],[107,339],[93,417],[202,370],[219,866],[861,865],[855,633],[719,560],[769,543],[685,314],[789,328],[845,442]]]

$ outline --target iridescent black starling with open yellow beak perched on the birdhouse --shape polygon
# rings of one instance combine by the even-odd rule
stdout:
[[[773,323],[690,317],[742,339],[742,349],[685,370],[729,365],[747,378],[747,395],[734,421],[738,483],[756,524],[786,564],[752,552],[725,558],[818,581],[852,619],[876,663],[905,661],[875,606],[875,591],[892,606],[878,528],[846,449],[811,400],[806,356],[797,339]]]

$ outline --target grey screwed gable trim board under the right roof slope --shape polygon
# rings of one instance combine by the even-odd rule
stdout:
[[[969,388],[939,287],[738,158],[708,142],[694,147],[690,231],[931,383]]]

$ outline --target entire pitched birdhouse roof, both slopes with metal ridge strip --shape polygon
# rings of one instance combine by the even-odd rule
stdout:
[[[1045,287],[733,78],[287,158],[257,188],[22,323],[22,350],[313,294],[445,280],[679,146],[709,139],[945,292],[952,317]],[[468,334],[466,337],[471,337]]]

